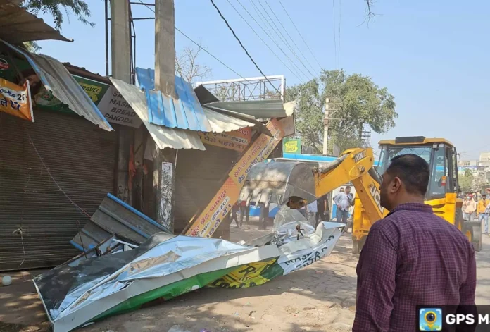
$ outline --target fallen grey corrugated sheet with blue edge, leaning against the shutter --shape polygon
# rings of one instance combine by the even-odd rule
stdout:
[[[70,242],[78,250],[88,251],[115,234],[122,240],[141,245],[158,232],[171,234],[149,216],[108,194],[90,221]]]

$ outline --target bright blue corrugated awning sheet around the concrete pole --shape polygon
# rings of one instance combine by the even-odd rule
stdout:
[[[177,98],[155,89],[155,70],[136,68],[139,87],[146,95],[150,123],[168,128],[213,131],[191,84],[175,76]]]

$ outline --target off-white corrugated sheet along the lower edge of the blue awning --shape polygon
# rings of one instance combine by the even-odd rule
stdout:
[[[132,109],[142,119],[146,129],[160,149],[171,147],[173,149],[199,149],[206,150],[195,131],[166,128],[161,125],[153,125],[148,121],[148,107],[144,92],[135,85],[127,84],[122,80],[111,78],[114,87],[118,89],[122,97],[131,105]]]

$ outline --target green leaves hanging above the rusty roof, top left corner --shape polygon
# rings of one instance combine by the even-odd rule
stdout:
[[[61,30],[65,16],[68,17],[70,11],[80,22],[92,27],[95,25],[87,20],[90,17],[90,11],[89,6],[83,0],[24,0],[22,6],[36,16],[39,16],[39,13],[53,16],[58,30]]]

